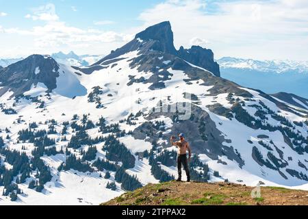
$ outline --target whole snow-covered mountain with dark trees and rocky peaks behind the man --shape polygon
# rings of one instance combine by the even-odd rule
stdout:
[[[180,51],[164,22],[87,68],[38,56],[0,70],[0,204],[96,205],[174,179],[177,133],[193,180],[308,189],[305,105]]]

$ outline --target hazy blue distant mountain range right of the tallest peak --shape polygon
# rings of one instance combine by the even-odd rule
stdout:
[[[235,57],[217,60],[222,77],[268,93],[290,92],[308,98],[308,62],[257,61]]]

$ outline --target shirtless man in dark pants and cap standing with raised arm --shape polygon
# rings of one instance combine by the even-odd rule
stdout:
[[[185,141],[185,136],[183,133],[179,134],[179,141],[174,142],[175,136],[172,136],[170,138],[170,142],[172,146],[177,146],[178,153],[177,153],[177,170],[179,172],[179,178],[177,181],[181,181],[182,177],[182,164],[184,166],[186,175],[187,175],[187,181],[190,182],[190,169],[188,167],[188,159],[187,159],[187,151],[189,153],[189,161],[190,157],[192,157],[192,151],[190,150],[190,144]]]

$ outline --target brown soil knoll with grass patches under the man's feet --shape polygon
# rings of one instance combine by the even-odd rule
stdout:
[[[102,205],[308,205],[308,191],[261,187],[261,197],[252,198],[253,188],[233,183],[149,184]]]

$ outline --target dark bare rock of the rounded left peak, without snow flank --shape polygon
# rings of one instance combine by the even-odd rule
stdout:
[[[0,96],[11,90],[14,96],[23,94],[37,83],[44,83],[49,91],[55,89],[59,77],[59,65],[53,58],[44,55],[31,55],[0,70]]]

